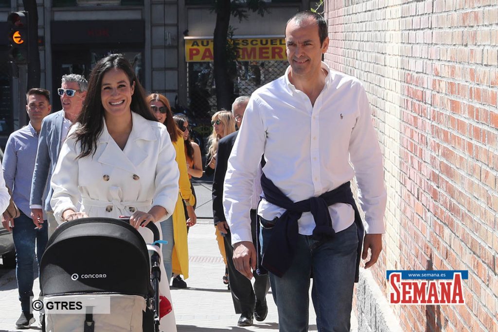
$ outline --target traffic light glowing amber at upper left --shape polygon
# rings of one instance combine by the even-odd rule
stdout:
[[[10,48],[8,56],[15,63],[29,62],[29,26],[28,12],[16,11],[8,15]]]

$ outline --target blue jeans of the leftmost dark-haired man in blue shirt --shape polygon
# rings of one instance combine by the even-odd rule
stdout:
[[[45,220],[40,229],[35,229],[31,218],[21,212],[21,215],[14,219],[12,237],[15,246],[15,277],[17,279],[21,310],[29,312],[31,309],[29,298],[33,296],[35,245],[39,267],[41,255],[45,251],[48,241],[48,223]]]

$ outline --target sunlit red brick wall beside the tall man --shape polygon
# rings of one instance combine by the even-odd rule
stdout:
[[[385,157],[385,270],[469,270],[405,331],[498,332],[498,1],[327,0],[325,62],[362,80]]]

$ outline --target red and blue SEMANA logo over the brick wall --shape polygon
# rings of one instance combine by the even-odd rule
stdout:
[[[390,304],[465,304],[462,279],[469,271],[388,270]]]

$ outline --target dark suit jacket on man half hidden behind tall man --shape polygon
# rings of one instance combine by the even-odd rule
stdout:
[[[218,142],[215,177],[213,179],[213,219],[215,225],[220,221],[227,221],[223,211],[223,183],[228,168],[228,158],[235,144],[239,131],[223,137]]]

